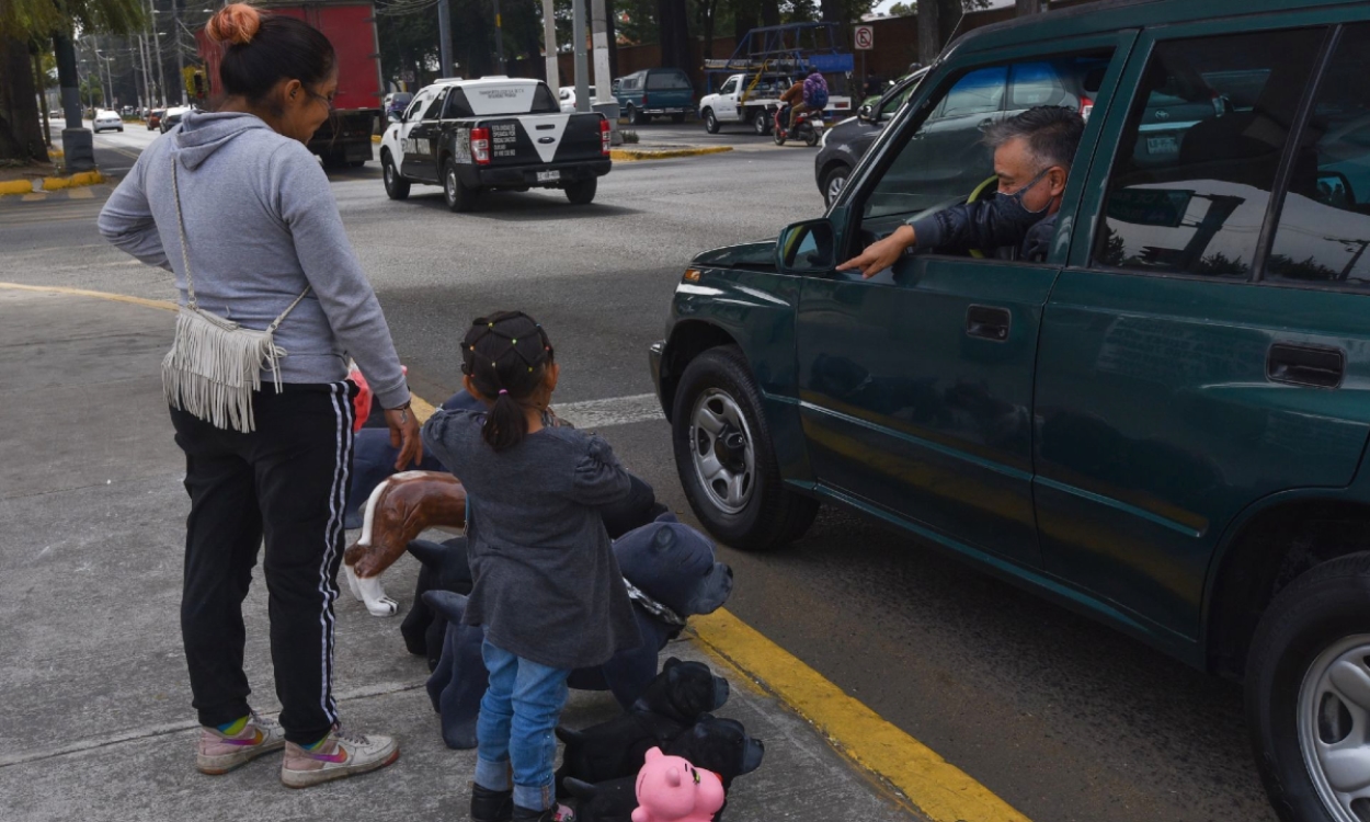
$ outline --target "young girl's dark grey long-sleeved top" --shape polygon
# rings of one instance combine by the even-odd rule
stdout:
[[[516,656],[556,669],[597,666],[641,643],[599,506],[630,490],[608,443],[545,427],[496,453],[484,412],[438,410],[423,447],[466,486],[475,586],[466,625]]]

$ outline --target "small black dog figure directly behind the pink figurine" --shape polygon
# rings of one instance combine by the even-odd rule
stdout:
[[[704,714],[693,727],[671,740],[663,752],[684,756],[690,764],[714,771],[723,778],[723,790],[732,790],[733,780],[760,767],[766,747],[760,740],[751,738],[741,722]],[[578,800],[575,818],[580,822],[632,822],[633,808],[637,807],[636,782],[636,775],[597,784],[567,777],[562,786],[564,795]],[[722,821],[726,808],[725,804],[714,815],[715,822]]]

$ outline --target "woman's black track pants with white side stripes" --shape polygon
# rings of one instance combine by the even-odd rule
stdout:
[[[263,537],[285,737],[314,743],[337,721],[333,600],[352,469],[353,392],[351,382],[290,384],[279,395],[266,388],[253,400],[256,430],[248,434],[171,410],[190,495],[181,636],[201,725],[248,712],[242,600]]]

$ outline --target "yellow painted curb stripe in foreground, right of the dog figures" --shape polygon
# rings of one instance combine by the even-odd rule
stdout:
[[[714,656],[756,680],[811,722],[833,747],[934,822],[1028,822],[1026,815],[936,751],[843,693],[727,611],[692,616],[689,630]]]

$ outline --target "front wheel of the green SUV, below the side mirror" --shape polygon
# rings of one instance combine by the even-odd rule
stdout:
[[[808,530],[818,503],[781,482],[760,392],[736,345],[690,362],[671,421],[675,470],[710,533],[743,551],[770,551]]]

